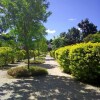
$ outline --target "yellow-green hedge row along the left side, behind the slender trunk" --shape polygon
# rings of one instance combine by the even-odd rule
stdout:
[[[30,58],[34,56],[38,56],[37,50],[30,50]],[[10,47],[0,47],[0,66],[8,65],[8,63],[14,63],[15,61],[21,61],[25,58],[25,50],[14,50]]]

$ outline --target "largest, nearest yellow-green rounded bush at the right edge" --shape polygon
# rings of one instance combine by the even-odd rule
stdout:
[[[100,77],[100,43],[81,43],[69,53],[72,74],[82,81],[95,82]]]

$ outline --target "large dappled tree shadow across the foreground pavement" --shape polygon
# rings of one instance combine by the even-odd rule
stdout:
[[[7,98],[8,95],[8,98]],[[18,79],[0,87],[1,100],[99,100],[100,94],[64,76]]]

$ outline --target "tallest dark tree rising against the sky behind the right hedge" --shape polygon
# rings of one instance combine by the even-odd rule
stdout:
[[[82,20],[80,23],[78,23],[78,27],[82,30],[83,38],[89,34],[95,34],[97,32],[97,26],[90,23],[88,19]]]

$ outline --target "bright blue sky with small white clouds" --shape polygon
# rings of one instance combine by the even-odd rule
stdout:
[[[48,0],[50,2],[49,11],[52,15],[48,18],[45,27],[49,40],[54,36],[59,36],[61,32],[77,27],[83,19],[88,18],[100,30],[100,0]]]

